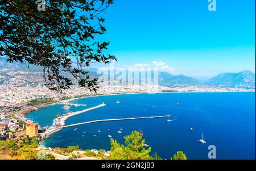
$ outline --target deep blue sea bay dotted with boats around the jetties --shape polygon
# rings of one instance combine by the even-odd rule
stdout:
[[[118,100],[119,104],[116,103]],[[102,102],[107,106],[73,116],[66,120],[66,124],[156,115],[171,115],[171,118],[68,127],[44,140],[43,145],[53,148],[79,145],[82,149],[110,150],[108,135],[123,143],[123,136],[137,130],[143,133],[145,143],[150,145],[152,156],[156,151],[162,159],[170,159],[176,151],[183,151],[188,159],[208,159],[209,145],[215,145],[217,159],[255,159],[255,93],[106,95],[71,101],[87,106],[72,106],[69,110],[63,109],[64,105],[52,105],[31,112],[27,118],[42,127],[49,126],[56,114],[87,109]],[[172,121],[167,122],[168,119]],[[122,134],[118,134],[121,128]],[[98,133],[99,129],[101,133]],[[202,132],[207,144],[197,141]]]

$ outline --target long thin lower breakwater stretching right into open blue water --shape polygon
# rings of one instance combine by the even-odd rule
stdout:
[[[82,123],[76,123],[76,124],[70,124],[68,126],[64,126],[63,128],[66,127],[73,127],[73,126],[79,126],[81,124],[89,124],[89,123],[95,123],[95,122],[110,122],[110,121],[117,121],[117,120],[134,120],[134,119],[152,119],[152,118],[165,118],[165,117],[171,117],[171,115],[164,115],[164,116],[146,116],[146,117],[138,117],[138,118],[119,118],[119,119],[100,119],[100,120],[92,120],[89,122],[82,122]]]

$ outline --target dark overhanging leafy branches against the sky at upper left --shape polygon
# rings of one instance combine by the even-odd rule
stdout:
[[[109,42],[95,40],[106,31],[100,15],[113,0],[45,0],[46,10],[41,11],[39,3],[0,0],[0,56],[43,66],[49,89],[70,88],[69,73],[80,86],[96,91],[97,78],[91,78],[86,67],[117,60],[104,54]]]

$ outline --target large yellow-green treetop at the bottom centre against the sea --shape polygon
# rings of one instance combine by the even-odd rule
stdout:
[[[134,131],[126,136],[125,145],[117,143],[117,140],[110,139],[111,142],[111,155],[110,159],[114,160],[127,160],[127,159],[152,159],[149,155],[151,147],[148,149],[143,148],[145,140],[142,139],[142,134]]]

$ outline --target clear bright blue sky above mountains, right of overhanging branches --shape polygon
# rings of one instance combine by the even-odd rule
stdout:
[[[174,74],[208,78],[255,72],[255,1],[115,0],[100,40],[118,65],[159,65]],[[155,61],[155,62],[154,62]],[[152,63],[153,62],[153,63]]]

